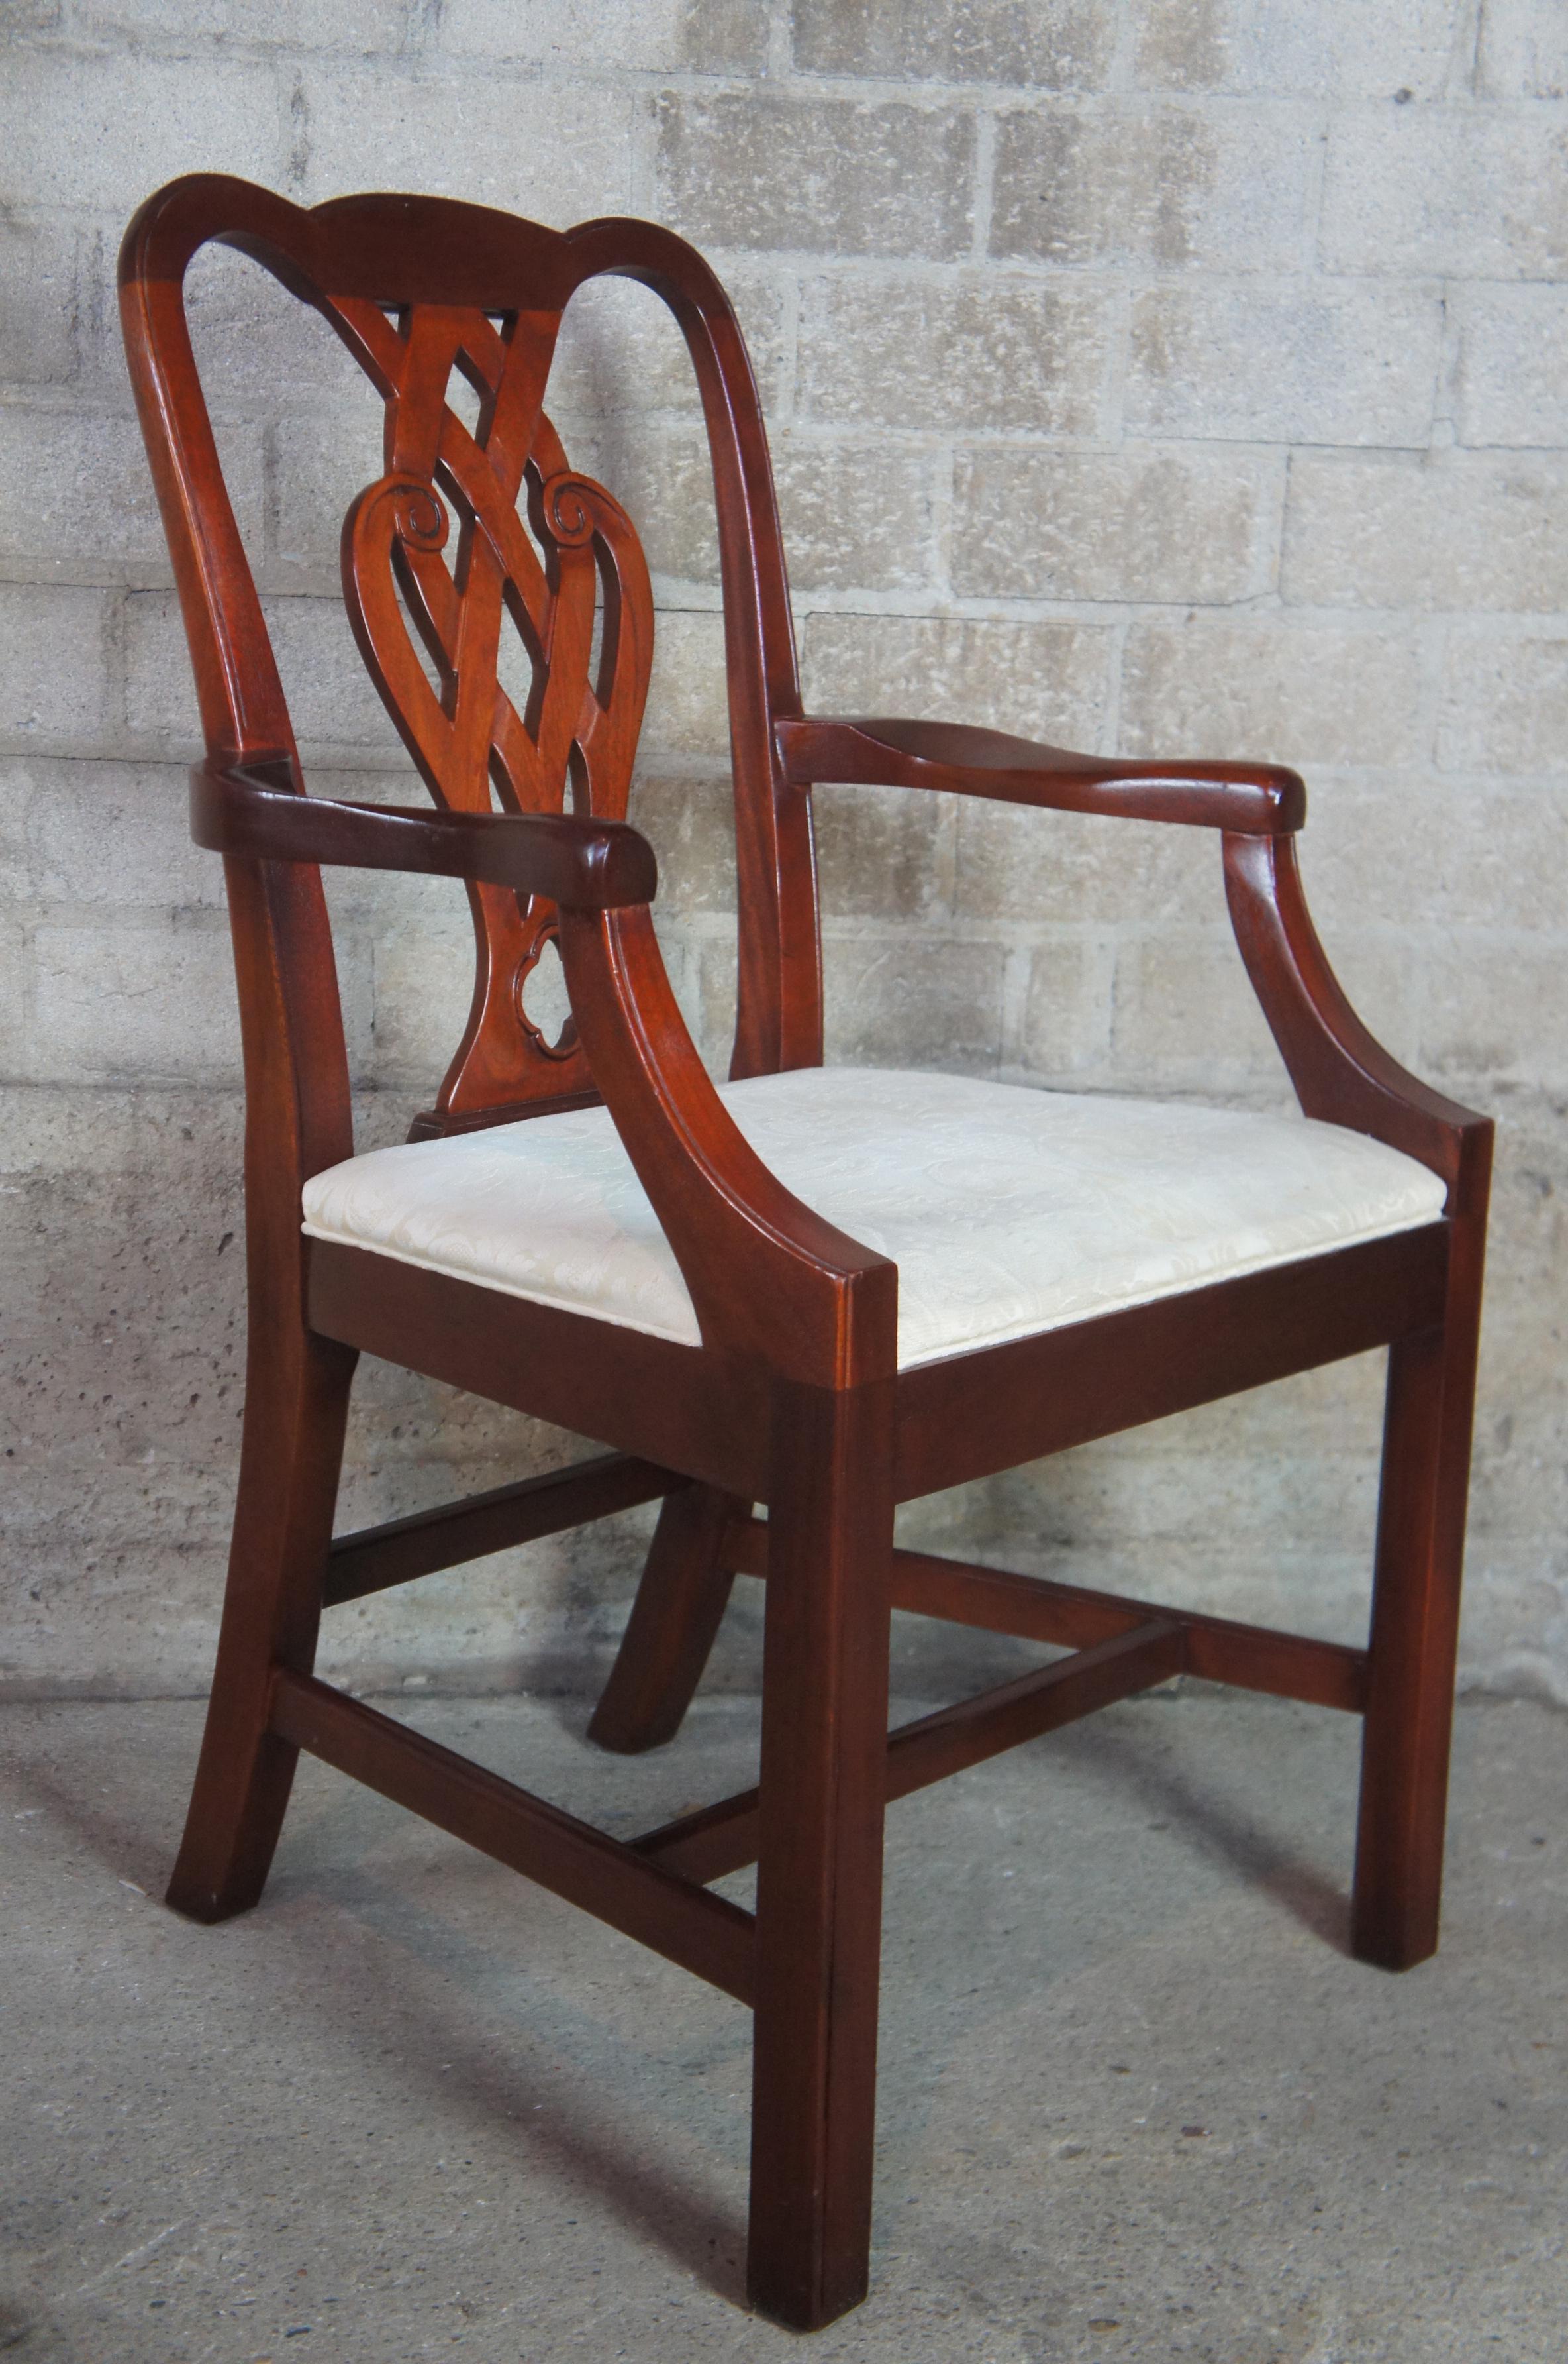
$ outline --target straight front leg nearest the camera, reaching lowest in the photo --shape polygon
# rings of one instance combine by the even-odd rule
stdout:
[[[746,2281],[815,2331],[871,2248],[893,1383],[782,1385],[772,1459]]]

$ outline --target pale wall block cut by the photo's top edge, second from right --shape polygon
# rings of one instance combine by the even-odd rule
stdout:
[[[1299,92],[1313,99],[1436,99],[1462,33],[1452,0],[1313,7],[1294,0],[1136,0],[1141,90]]]

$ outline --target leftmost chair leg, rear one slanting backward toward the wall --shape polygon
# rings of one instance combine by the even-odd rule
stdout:
[[[220,1922],[257,1901],[298,1749],[267,1730],[274,1667],[309,1671],[357,1355],[253,1331],[213,1700],[168,1901]]]

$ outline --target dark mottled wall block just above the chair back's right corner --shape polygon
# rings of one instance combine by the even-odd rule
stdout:
[[[654,206],[713,246],[961,255],[973,220],[973,116],[850,99],[654,102]]]

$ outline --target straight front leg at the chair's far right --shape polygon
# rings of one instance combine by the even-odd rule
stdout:
[[[1438,1946],[1474,1331],[1450,1303],[1448,1329],[1389,1350],[1351,1910],[1351,1950],[1381,1969],[1412,1969]]]

